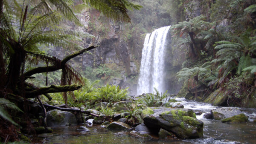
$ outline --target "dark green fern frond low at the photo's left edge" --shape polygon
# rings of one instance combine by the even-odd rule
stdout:
[[[12,109],[22,112],[22,110],[20,110],[14,103],[10,102],[5,98],[0,98],[0,116],[7,121],[10,121],[12,124],[18,125],[17,123],[15,123],[15,121],[12,120],[12,117],[8,114],[6,109]]]

